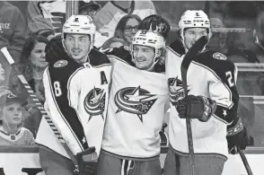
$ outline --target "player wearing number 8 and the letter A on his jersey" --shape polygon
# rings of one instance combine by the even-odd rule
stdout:
[[[109,99],[110,60],[93,49],[95,26],[87,15],[66,20],[61,36],[46,47],[48,68],[43,75],[46,110],[83,175],[95,175],[97,162],[85,162],[85,151],[100,153]],[[42,118],[36,142],[46,175],[72,175],[75,165]],[[94,149],[93,149],[94,153]],[[83,156],[83,157],[82,157]]]

